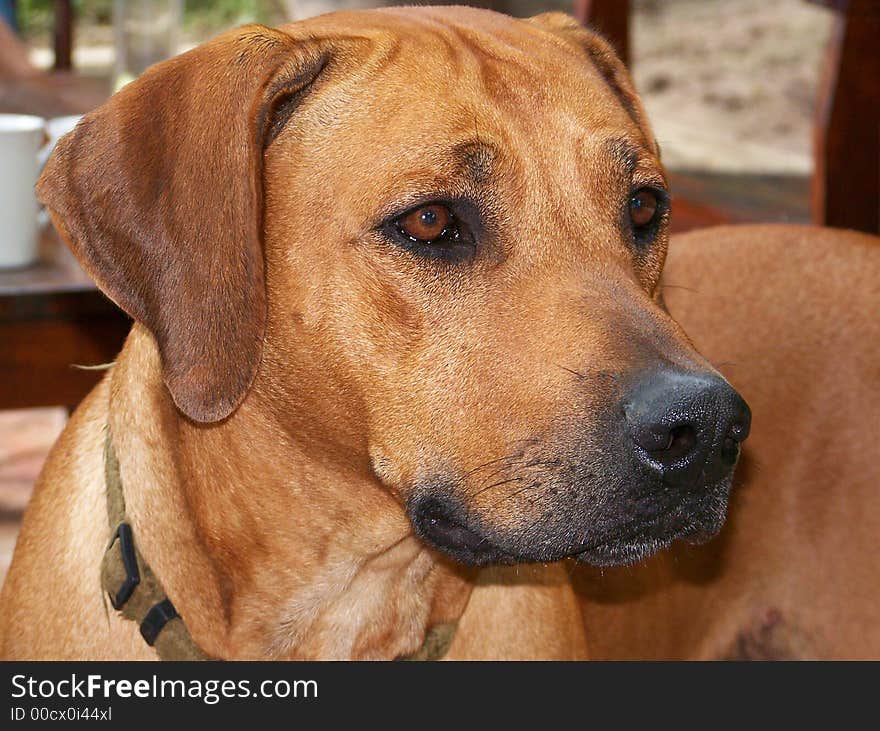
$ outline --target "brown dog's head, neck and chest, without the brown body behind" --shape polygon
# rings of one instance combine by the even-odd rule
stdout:
[[[137,323],[41,476],[0,652],[156,657],[143,622],[392,658],[457,621],[447,657],[585,657],[560,564],[462,565],[721,526],[749,411],[659,304],[664,187],[623,67],[564,16],[338,14],[146,73],[39,186]],[[174,630],[106,613],[123,488]]]

